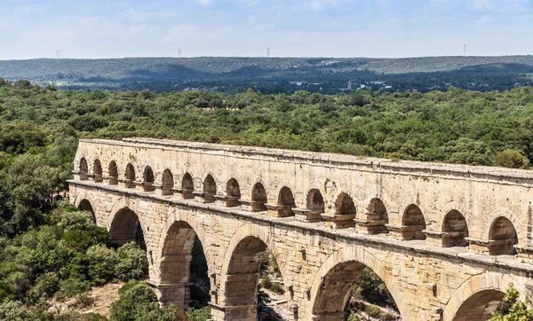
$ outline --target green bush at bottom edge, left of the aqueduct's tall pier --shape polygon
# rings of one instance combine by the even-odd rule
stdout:
[[[154,290],[146,282],[133,281],[122,286],[119,299],[111,303],[111,320],[114,321],[173,321],[176,308],[161,308]]]

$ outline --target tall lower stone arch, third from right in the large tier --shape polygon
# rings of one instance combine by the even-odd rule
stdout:
[[[224,307],[224,310],[214,309],[213,320],[257,318],[259,263],[267,248],[280,263],[280,272],[285,279],[282,258],[267,231],[254,224],[245,224],[235,231],[222,263],[219,297],[211,300],[215,307]]]

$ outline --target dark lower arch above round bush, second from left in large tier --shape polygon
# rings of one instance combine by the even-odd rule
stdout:
[[[142,248],[147,247],[142,217],[138,215],[133,200],[123,198],[115,202],[107,219],[107,231],[111,243],[117,247],[131,241],[135,241]]]

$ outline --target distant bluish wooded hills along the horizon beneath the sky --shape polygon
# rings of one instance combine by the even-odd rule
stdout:
[[[509,90],[531,82],[533,56],[367,58],[127,58],[0,61],[0,77],[59,89],[201,89],[235,94],[249,89],[322,94],[457,88]],[[348,82],[351,82],[348,89]]]

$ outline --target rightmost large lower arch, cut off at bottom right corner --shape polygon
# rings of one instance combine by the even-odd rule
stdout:
[[[451,295],[442,313],[443,321],[488,320],[487,312],[496,309],[495,301],[499,302],[503,298],[505,290],[512,283],[512,278],[495,272],[486,272],[468,278]],[[529,296],[528,292],[516,283],[513,284],[521,293],[521,300],[525,300]]]

